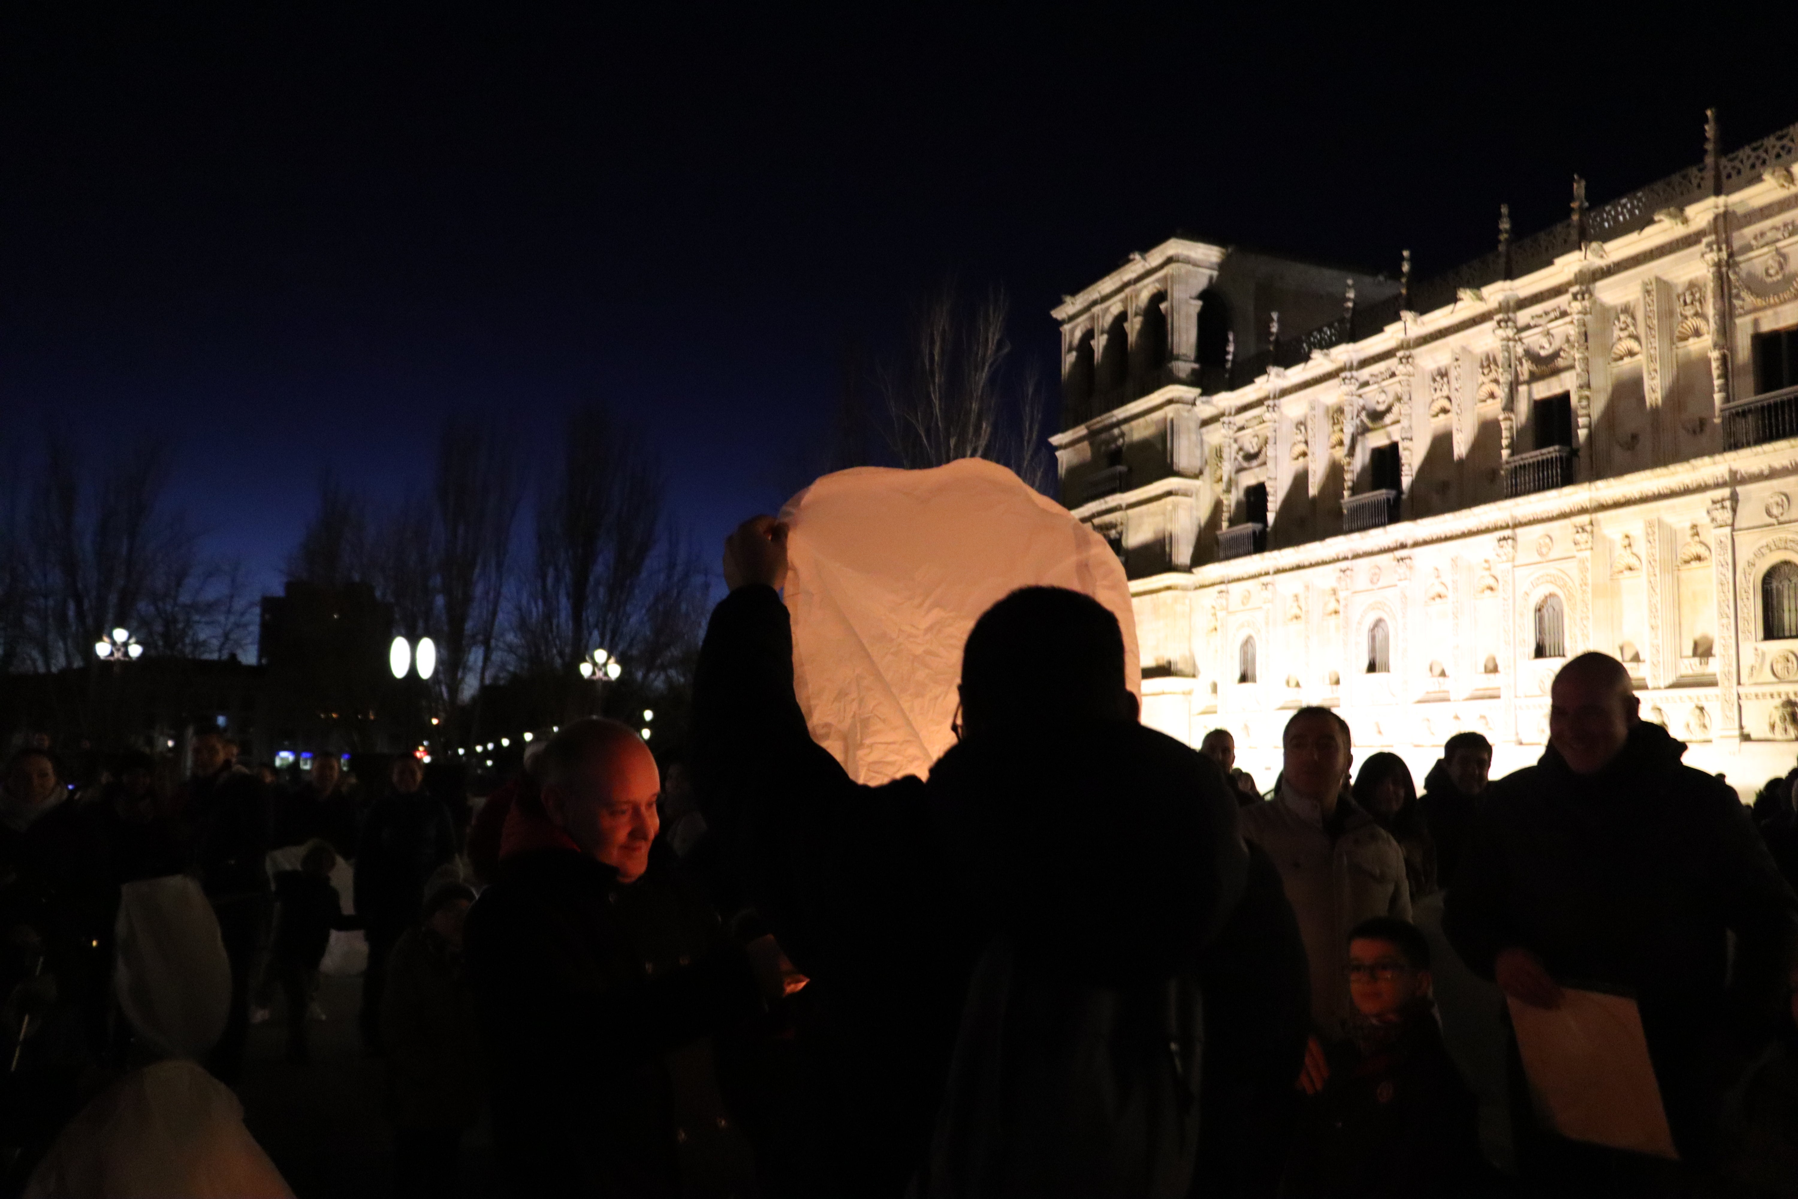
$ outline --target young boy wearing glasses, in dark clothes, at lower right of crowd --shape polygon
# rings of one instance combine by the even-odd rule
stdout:
[[[1393,917],[1348,933],[1354,1012],[1305,1100],[1282,1195],[1460,1195],[1478,1177],[1478,1104],[1442,1048],[1429,944]]]

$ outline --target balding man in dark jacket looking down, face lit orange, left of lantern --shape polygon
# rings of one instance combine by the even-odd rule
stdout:
[[[503,857],[466,929],[507,1190],[748,1194],[712,1037],[761,1014],[761,990],[698,888],[649,852],[656,762],[631,728],[586,719],[538,771],[547,836]],[[530,818],[514,807],[509,825]]]

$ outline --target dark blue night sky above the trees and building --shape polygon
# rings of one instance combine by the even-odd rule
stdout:
[[[397,498],[444,410],[635,413],[710,561],[946,277],[1052,374],[1059,297],[1174,232],[1428,275],[1697,160],[1706,104],[1798,120],[1746,5],[22,7],[0,439],[167,435],[268,586],[320,467]]]

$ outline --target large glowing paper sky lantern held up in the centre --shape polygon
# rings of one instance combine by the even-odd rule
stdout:
[[[791,525],[798,703],[811,735],[858,782],[922,777],[953,744],[962,644],[980,613],[1023,586],[1070,588],[1109,608],[1124,629],[1126,679],[1142,694],[1124,564],[998,464],[838,471],[780,518]]]

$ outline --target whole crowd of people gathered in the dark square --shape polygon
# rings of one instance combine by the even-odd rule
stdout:
[[[1102,606],[1025,588],[962,649],[957,744],[861,786],[784,577],[780,525],[728,539],[685,762],[570,723],[471,822],[410,759],[277,796],[207,735],[178,787],[124,757],[72,795],[18,751],[7,1186],[63,1194],[171,1057],[119,929],[191,879],[228,1003],[183,1044],[225,1084],[275,1003],[307,1059],[361,929],[403,1194],[455,1194],[484,1111],[518,1195],[1798,1194],[1798,771],[1744,809],[1618,662],[1562,667],[1537,766],[1489,782],[1462,733],[1422,795],[1300,708],[1264,798],[1226,730],[1138,723]],[[1634,1001],[1672,1156],[1544,1120],[1510,1014],[1579,989]]]

